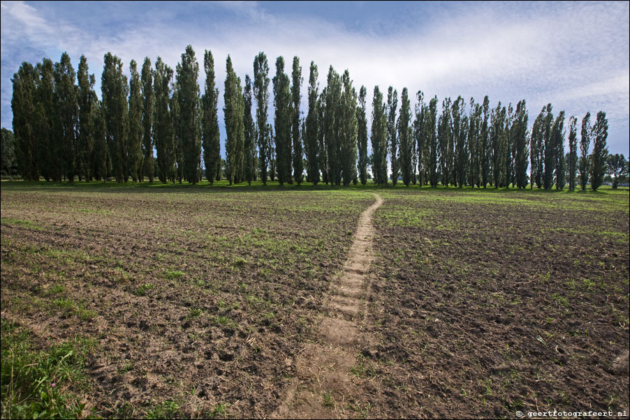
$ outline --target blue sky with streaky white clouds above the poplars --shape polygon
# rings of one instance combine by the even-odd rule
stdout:
[[[203,52],[214,56],[222,140],[226,57],[244,80],[264,51],[270,77],[276,57],[284,56],[289,75],[300,57],[305,114],[314,61],[320,89],[329,66],[348,69],[357,91],[367,87],[369,104],[376,85],[399,94],[408,88],[412,109],[418,90],[440,103],[447,96],[468,103],[488,95],[491,107],[525,99],[530,126],[551,103],[554,114],[578,118],[578,133],[586,112],[594,122],[604,111],[609,151],[629,156],[629,9],[628,1],[1,1],[1,125],[12,127],[11,77],[23,61],[59,61],[66,51],[77,68],[85,54],[100,97],[105,53],[121,57],[129,75],[131,59],[140,68],[145,57],[160,56],[175,68],[190,44],[201,91]]]

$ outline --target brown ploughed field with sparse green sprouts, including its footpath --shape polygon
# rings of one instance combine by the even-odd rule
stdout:
[[[628,413],[627,191],[374,192],[3,183],[3,351],[89,340],[83,416]]]

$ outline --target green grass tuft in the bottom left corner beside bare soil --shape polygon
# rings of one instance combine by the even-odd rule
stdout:
[[[87,389],[85,359],[93,340],[69,340],[39,350],[29,333],[1,320],[3,419],[82,417]]]

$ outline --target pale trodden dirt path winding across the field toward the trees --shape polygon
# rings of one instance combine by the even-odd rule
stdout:
[[[272,418],[356,417],[369,407],[357,357],[362,343],[362,297],[369,293],[367,274],[373,258],[372,214],[383,204],[379,195],[374,197],[376,202],[359,218],[349,260],[325,303],[316,343],[309,343],[294,361],[285,361],[293,371],[293,383]]]

